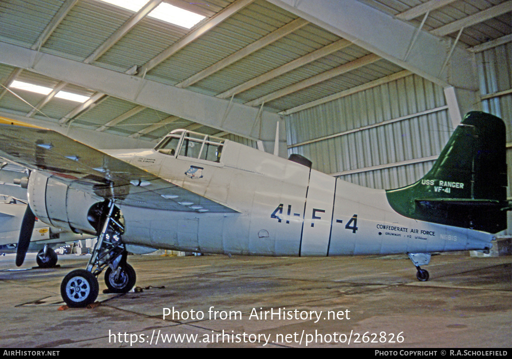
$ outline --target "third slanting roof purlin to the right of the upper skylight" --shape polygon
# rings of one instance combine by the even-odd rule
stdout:
[[[239,86],[233,87],[232,89],[217,95],[217,97],[228,98],[241,92],[247,91],[255,86],[261,85],[266,81],[284,75],[292,70],[298,69],[304,65],[309,64],[310,62],[316,61],[322,57],[332,54],[333,52],[342,50],[350,45],[352,45],[350,41],[340,39],[335,43],[319,48],[318,50],[310,52],[309,54],[299,57],[293,61],[290,61],[287,64],[284,64],[276,69],[268,71],[258,77],[254,77],[253,79],[246,81],[244,83],[241,83]]]

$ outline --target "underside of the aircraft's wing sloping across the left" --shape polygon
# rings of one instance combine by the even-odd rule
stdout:
[[[179,212],[237,212],[51,130],[0,124],[0,157],[121,204]]]

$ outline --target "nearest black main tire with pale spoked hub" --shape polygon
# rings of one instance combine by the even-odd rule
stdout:
[[[85,269],[69,272],[60,284],[60,295],[70,308],[83,308],[94,303],[98,293],[98,280]]]

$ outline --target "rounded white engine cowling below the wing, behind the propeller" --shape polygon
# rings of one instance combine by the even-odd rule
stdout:
[[[30,174],[27,195],[32,212],[42,222],[75,233],[96,234],[88,214],[93,205],[103,201],[101,197],[70,188],[37,171]]]

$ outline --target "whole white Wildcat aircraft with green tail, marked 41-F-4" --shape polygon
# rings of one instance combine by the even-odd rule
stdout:
[[[468,113],[433,168],[407,187],[371,189],[242,144],[175,130],[154,149],[106,153],[41,128],[0,125],[0,157],[31,170],[30,209],[53,226],[98,236],[86,269],[61,283],[70,307],[97,298],[97,276],[127,292],[126,253],[408,254],[420,281],[431,252],[488,250],[506,228],[505,125]],[[24,224],[22,231],[29,230]],[[30,229],[31,231],[31,229]],[[22,247],[21,245],[18,247]],[[25,254],[20,251],[20,262]]]

